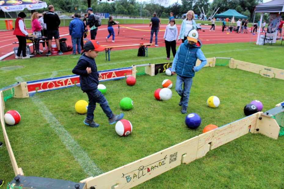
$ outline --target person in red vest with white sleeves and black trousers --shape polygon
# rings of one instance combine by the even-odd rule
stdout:
[[[30,37],[29,34],[26,31],[26,27],[24,24],[24,18],[27,17],[27,15],[24,12],[20,12],[18,14],[18,18],[15,21],[15,29],[13,34],[16,35],[19,41],[19,48],[16,54],[16,59],[25,59],[30,58],[26,55],[26,46],[27,46],[27,40],[26,37]],[[21,56],[21,53],[23,56]]]

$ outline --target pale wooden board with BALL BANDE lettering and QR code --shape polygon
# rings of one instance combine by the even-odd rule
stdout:
[[[80,183],[86,181],[87,188],[94,186],[96,189],[111,188],[114,185],[115,188],[131,188],[179,166],[184,154],[184,157],[188,156],[187,160],[194,160],[197,144],[198,137],[193,137],[107,173],[82,180]],[[184,162],[189,162],[187,160]]]

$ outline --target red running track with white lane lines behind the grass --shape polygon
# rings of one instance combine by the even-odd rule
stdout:
[[[131,30],[124,27],[130,27],[135,30]],[[250,33],[248,34],[236,34],[235,32],[227,34],[226,31],[222,32],[221,26],[215,27],[215,32],[211,31],[209,32],[210,25],[201,25],[202,30],[198,31],[199,33],[199,39],[202,42],[203,45],[205,44],[219,44],[219,43],[236,43],[236,42],[249,42],[250,41]],[[120,35],[118,35],[118,25],[113,26],[115,30],[115,43],[112,43],[111,37],[108,39],[108,41],[105,40],[105,38],[108,35],[107,26],[102,25],[99,27],[99,30],[96,35],[96,40],[99,41],[100,45],[129,45],[129,44],[139,44],[139,43],[148,43],[150,42],[150,27],[148,24],[121,24],[120,25]],[[164,43],[164,31],[166,29],[166,24],[161,25],[160,32],[158,33],[158,45],[159,47],[165,47]],[[180,25],[177,25],[178,31],[180,30]],[[146,30],[146,31],[143,31]],[[149,31],[147,31],[149,30]],[[28,33],[32,33],[31,29],[27,30]],[[67,45],[72,45],[71,42],[71,36],[69,35],[69,29],[68,27],[60,27],[59,28],[59,34],[60,37],[67,38]],[[127,37],[125,37],[127,36]],[[87,36],[87,38],[90,38],[90,36]],[[141,39],[143,38],[143,39]],[[252,35],[252,42],[255,42],[257,40],[257,35]],[[17,42],[17,38],[15,35],[13,35],[13,31],[2,31],[0,32],[0,57],[3,55],[6,55],[10,52],[13,52],[14,47],[18,47],[18,44],[12,44],[13,42]],[[155,43],[155,36],[153,36],[153,42]],[[177,46],[179,46],[181,43],[180,41],[177,41]],[[55,42],[53,42],[55,44]],[[32,48],[32,47],[31,47]],[[123,49],[130,49],[133,47],[126,47],[126,48],[115,48],[113,50],[123,50]],[[156,47],[150,47],[150,48],[156,48]],[[42,49],[42,45],[40,45],[40,49]],[[31,49],[32,51],[32,49]],[[47,51],[45,51],[47,52]],[[44,53],[45,53],[44,52]],[[71,54],[72,52],[65,52],[63,55]],[[58,56],[58,55],[51,55],[51,56]],[[37,55],[36,57],[40,57],[40,55]],[[15,59],[15,55],[10,55],[4,60],[9,59]]]

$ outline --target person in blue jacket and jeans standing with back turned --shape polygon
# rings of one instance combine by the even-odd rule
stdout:
[[[78,18],[78,13],[74,14],[74,19],[71,20],[69,24],[69,35],[71,35],[73,54],[76,55],[76,45],[77,52],[81,54],[81,37],[84,34],[84,24]]]

